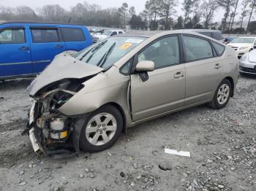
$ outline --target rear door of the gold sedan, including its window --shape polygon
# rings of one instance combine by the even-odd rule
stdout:
[[[207,39],[184,35],[186,105],[211,101],[222,77],[222,60]]]

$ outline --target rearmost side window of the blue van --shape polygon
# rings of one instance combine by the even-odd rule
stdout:
[[[65,42],[81,42],[86,38],[81,28],[61,28]]]

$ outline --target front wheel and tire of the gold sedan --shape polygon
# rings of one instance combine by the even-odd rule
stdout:
[[[86,120],[80,148],[85,152],[100,152],[111,147],[121,135],[124,120],[115,106],[102,106]]]

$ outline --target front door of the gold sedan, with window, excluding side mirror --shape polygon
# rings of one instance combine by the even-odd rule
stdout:
[[[131,75],[132,120],[153,117],[184,106],[185,69],[181,63],[178,36],[153,42],[138,54],[138,62],[154,61],[155,70],[143,82]]]

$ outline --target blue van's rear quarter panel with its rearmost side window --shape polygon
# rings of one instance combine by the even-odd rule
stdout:
[[[66,50],[80,51],[91,45],[91,37],[83,28],[61,27]]]

